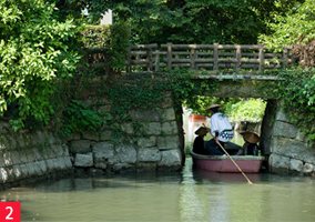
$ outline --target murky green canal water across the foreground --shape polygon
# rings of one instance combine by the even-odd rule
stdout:
[[[278,222],[315,221],[315,179],[275,174],[182,172],[78,175],[0,192],[21,202],[21,221]]]

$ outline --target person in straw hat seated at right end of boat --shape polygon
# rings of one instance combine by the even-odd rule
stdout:
[[[257,142],[260,142],[261,138],[254,132],[241,132],[243,139],[245,141],[243,145],[243,154],[244,155],[258,155],[260,147]]]

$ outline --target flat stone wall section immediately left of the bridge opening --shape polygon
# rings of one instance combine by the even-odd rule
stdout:
[[[92,98],[84,102],[93,105],[91,101]],[[104,172],[180,170],[184,163],[184,139],[181,120],[176,121],[173,105],[172,94],[166,93],[158,110],[131,110],[131,120],[123,123],[121,130],[133,134],[132,122],[142,123],[149,137],[138,141],[116,141],[110,130],[68,137],[73,165]],[[111,102],[102,100],[99,109],[110,110]]]

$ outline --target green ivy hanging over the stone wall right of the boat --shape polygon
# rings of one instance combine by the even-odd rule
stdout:
[[[288,119],[313,143],[315,140],[315,79],[308,69],[287,69],[275,74],[282,79],[270,85],[277,100],[282,100],[282,108]]]

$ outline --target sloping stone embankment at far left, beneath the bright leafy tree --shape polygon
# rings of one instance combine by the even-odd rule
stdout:
[[[10,124],[0,123],[0,188],[69,172],[69,150],[58,137],[13,132]]]

